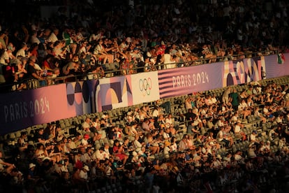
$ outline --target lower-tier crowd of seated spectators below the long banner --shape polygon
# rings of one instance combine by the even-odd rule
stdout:
[[[182,111],[170,112],[156,101],[114,117],[110,112],[87,115],[69,133],[58,122],[23,130],[19,138],[1,141],[0,188],[284,192],[288,95],[287,84],[252,83],[218,95],[196,93],[172,100]],[[124,125],[117,124],[121,121]]]

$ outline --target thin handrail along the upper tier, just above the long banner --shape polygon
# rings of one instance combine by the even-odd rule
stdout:
[[[199,58],[192,61],[186,61],[186,62],[173,62],[170,64],[184,64],[182,67],[187,66],[198,66],[202,64],[209,64],[207,61],[209,59],[216,59],[218,62],[224,62],[224,61],[232,61],[235,59],[242,59],[244,58],[251,58],[251,57],[257,57],[257,56],[267,56],[267,55],[276,55],[279,54],[281,50],[271,50],[271,51],[262,51],[262,52],[250,52],[250,53],[244,53],[242,55],[225,55],[223,57],[214,57],[214,58]],[[214,64],[216,62],[212,62],[210,64]],[[154,71],[158,71],[161,69],[164,69],[163,66],[168,64],[154,64],[156,69]],[[0,93],[8,93],[8,92],[15,92],[17,91],[17,88],[20,87],[20,85],[24,84],[26,85],[26,88],[24,90],[30,90],[30,89],[36,89],[38,87],[45,87],[49,85],[57,85],[59,83],[71,83],[71,82],[77,82],[80,80],[91,80],[91,79],[99,79],[99,78],[109,78],[112,76],[124,76],[128,74],[134,74],[138,73],[139,71],[144,71],[146,66],[134,66],[132,69],[117,69],[117,70],[110,70],[105,71],[105,76],[101,76],[101,73],[83,73],[79,75],[68,75],[68,76],[60,76],[56,78],[52,78],[50,76],[47,76],[44,80],[36,80],[36,79],[30,79],[30,80],[21,80],[15,83],[1,83],[0,84]],[[177,68],[180,68],[177,66]],[[133,71],[134,73],[129,73],[129,71]],[[124,73],[126,71],[126,73]]]

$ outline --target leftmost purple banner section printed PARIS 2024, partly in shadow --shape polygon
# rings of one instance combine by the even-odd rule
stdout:
[[[75,116],[67,105],[66,85],[0,95],[0,134]]]

